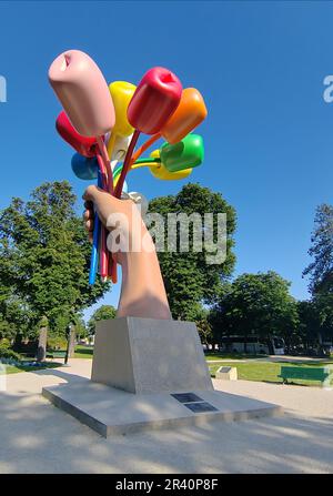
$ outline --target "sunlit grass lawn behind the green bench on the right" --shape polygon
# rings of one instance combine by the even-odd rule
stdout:
[[[300,363],[300,362],[284,362],[284,363],[276,363],[276,362],[245,362],[245,363],[235,363],[235,362],[221,362],[220,364],[212,364],[209,365],[210,372],[212,377],[215,376],[216,370],[223,365],[223,366],[230,366],[230,367],[236,367],[238,370],[238,376],[240,379],[244,381],[263,381],[268,383],[282,383],[282,378],[278,377],[281,372],[281,365],[287,367],[319,367],[324,365],[332,365],[332,361],[323,361],[323,362],[316,362],[313,364],[310,363]],[[320,385],[321,383],[316,381],[295,381],[296,384],[304,384],[304,385]]]

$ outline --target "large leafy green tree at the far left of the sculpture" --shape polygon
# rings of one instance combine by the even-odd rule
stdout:
[[[91,245],[69,182],[43,183],[27,203],[14,198],[0,214],[0,275],[40,323],[43,360],[48,327],[63,333],[79,311],[110,284],[88,283]]]

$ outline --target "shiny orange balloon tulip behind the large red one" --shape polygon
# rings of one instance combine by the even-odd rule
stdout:
[[[208,111],[200,91],[185,88],[175,112],[162,128],[161,134],[171,144],[178,143],[196,128],[205,118]]]

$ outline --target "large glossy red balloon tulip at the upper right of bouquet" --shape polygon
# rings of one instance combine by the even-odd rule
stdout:
[[[179,105],[182,84],[164,68],[150,69],[143,75],[128,107],[130,124],[145,134],[158,133]]]

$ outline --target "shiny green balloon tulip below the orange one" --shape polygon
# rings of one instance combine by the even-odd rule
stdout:
[[[200,134],[188,134],[179,143],[164,143],[160,149],[161,162],[169,172],[196,168],[202,163],[203,155],[203,140]]]

